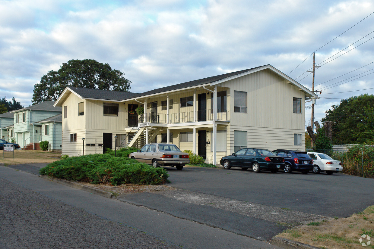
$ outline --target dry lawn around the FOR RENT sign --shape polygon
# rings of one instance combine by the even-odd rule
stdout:
[[[5,159],[3,160],[3,156]],[[35,163],[51,163],[59,160],[61,152],[49,152],[42,150],[14,150],[14,161],[13,152],[4,152],[0,150],[0,162],[6,165],[13,164],[35,164]]]

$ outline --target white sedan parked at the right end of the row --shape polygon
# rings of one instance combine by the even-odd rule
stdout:
[[[334,172],[343,172],[341,162],[324,153],[308,152],[308,155],[313,159],[313,173],[325,171],[326,174],[331,175]]]

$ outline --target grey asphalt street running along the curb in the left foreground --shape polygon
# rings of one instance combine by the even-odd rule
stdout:
[[[0,166],[0,248],[278,248]]]

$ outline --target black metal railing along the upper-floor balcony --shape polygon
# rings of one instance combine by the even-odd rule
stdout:
[[[218,121],[229,121],[230,115],[229,110],[218,110],[217,111],[217,120]],[[212,121],[214,117],[214,113],[212,109],[207,109],[204,111],[196,111],[196,121]],[[128,126],[134,127],[138,126],[138,122],[150,122],[153,124],[177,124],[177,123],[187,123],[187,122],[194,122],[194,115],[193,111],[191,112],[178,112],[178,113],[170,113],[169,120],[168,115],[166,113],[145,113],[140,116],[138,120],[129,119]]]

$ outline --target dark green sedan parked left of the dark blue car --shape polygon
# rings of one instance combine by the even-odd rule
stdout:
[[[240,149],[231,156],[224,156],[221,158],[221,165],[224,169],[240,167],[243,170],[252,168],[253,172],[260,172],[264,169],[273,173],[284,169],[285,166],[282,157],[274,155],[270,150],[255,148]]]

